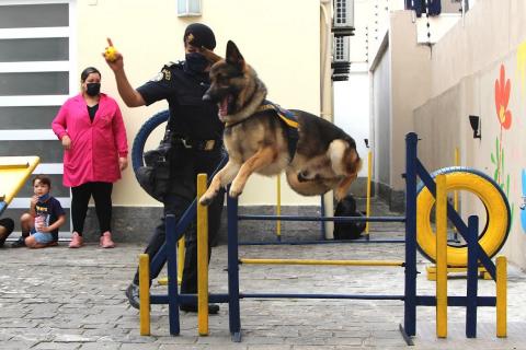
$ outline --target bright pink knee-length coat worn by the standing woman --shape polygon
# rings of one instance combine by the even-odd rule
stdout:
[[[99,109],[91,122],[82,95],[68,98],[52,128],[58,139],[65,135],[71,139],[70,150],[64,151],[64,186],[115,183],[121,178],[118,158],[127,156],[128,141],[115,100],[101,94]]]

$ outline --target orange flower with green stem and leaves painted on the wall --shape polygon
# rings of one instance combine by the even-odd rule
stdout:
[[[504,65],[501,65],[501,72],[499,79],[495,80],[495,108],[499,124],[501,125],[500,136],[495,140],[495,153],[491,153],[491,163],[495,165],[493,179],[501,186],[502,190],[510,198],[510,174],[504,172],[504,147],[502,141],[503,130],[508,130],[512,127],[512,112],[507,109],[510,103],[510,93],[512,91],[512,83],[510,79],[506,80],[506,70]],[[511,203],[512,222],[514,206]]]

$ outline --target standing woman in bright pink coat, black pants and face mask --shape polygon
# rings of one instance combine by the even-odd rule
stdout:
[[[83,245],[88,203],[93,196],[101,230],[100,246],[113,248],[112,190],[127,166],[128,142],[123,115],[112,97],[100,92],[101,73],[89,67],[80,75],[81,92],[68,98],[53,120],[64,147],[64,185],[71,187],[70,248]]]

